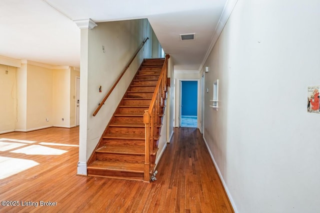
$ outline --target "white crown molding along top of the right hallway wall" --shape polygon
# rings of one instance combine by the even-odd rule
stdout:
[[[209,48],[207,49],[207,51],[204,55],[204,58],[202,60],[202,63],[199,66],[199,69],[198,69],[199,72],[201,72],[201,69],[203,68],[206,59],[209,57],[209,55],[214,47],[214,44],[217,41],[218,37],[220,36],[222,29],[226,24],[226,21],[230,17],[231,12],[232,12],[236,2],[237,2],[237,0],[227,0],[226,1],[224,8],[223,8],[223,11],[221,13],[220,19],[219,19],[218,23],[216,24],[213,35],[211,37],[211,43],[209,45]]]

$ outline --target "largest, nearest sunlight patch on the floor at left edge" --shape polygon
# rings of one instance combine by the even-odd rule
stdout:
[[[39,163],[33,160],[0,156],[0,179],[11,176]]]

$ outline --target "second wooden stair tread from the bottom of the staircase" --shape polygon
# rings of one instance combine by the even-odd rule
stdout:
[[[144,147],[134,146],[102,146],[95,152],[99,153],[119,153],[119,154],[144,154]]]

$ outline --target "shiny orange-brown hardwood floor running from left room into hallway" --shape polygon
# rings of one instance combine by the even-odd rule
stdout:
[[[0,159],[39,163],[0,179],[0,201],[19,204],[0,206],[0,212],[233,212],[197,129],[174,129],[173,139],[157,166],[157,180],[150,183],[76,175],[78,130],[51,127],[0,134],[0,138],[33,141],[0,139],[0,147],[25,144],[0,151]],[[36,147],[36,154],[11,152],[23,147],[28,147],[28,151]],[[42,150],[43,147],[47,149]],[[53,155],[59,152],[55,149],[67,152]],[[14,166],[3,168],[0,160],[2,174]],[[55,205],[40,206],[40,201]]]

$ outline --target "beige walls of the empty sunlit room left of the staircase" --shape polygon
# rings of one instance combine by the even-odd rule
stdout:
[[[5,103],[0,105],[5,112],[0,114],[0,132],[74,126],[75,76],[79,71],[34,61],[16,64],[19,67],[0,64],[0,98]]]

